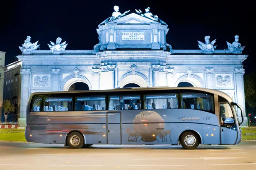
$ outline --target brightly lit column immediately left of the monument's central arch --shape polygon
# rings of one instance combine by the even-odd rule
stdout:
[[[100,90],[114,89],[115,80],[114,73],[116,65],[104,65],[101,66],[100,74]]]

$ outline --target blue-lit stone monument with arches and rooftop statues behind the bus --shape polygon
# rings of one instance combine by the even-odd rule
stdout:
[[[230,95],[245,108],[244,47],[238,36],[228,49],[217,50],[216,40],[204,37],[199,49],[175,50],[166,42],[168,25],[149,8],[145,13],[126,11],[115,6],[112,16],[98,25],[99,43],[93,50],[66,50],[66,41],[50,41],[50,50],[27,37],[20,47],[22,61],[20,125],[25,125],[27,100],[33,92],[69,90],[84,83],[89,90],[140,87],[177,87],[181,82],[194,87],[217,89]],[[203,38],[202,38],[203,39]],[[73,87],[71,88],[73,89]]]

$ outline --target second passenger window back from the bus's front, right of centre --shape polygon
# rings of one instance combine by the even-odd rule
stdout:
[[[178,108],[178,94],[155,94],[144,95],[145,109],[177,109]]]

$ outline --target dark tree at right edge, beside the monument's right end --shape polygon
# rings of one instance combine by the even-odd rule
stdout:
[[[244,77],[245,102],[250,107],[256,107],[256,73]]]

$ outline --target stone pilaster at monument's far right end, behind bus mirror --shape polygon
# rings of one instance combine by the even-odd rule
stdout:
[[[245,114],[245,93],[244,93],[244,69],[243,68],[234,68],[235,73],[235,87],[236,87],[236,103],[243,107]],[[239,120],[241,120],[241,115]],[[244,123],[242,126],[247,126],[247,117],[245,117]]]

